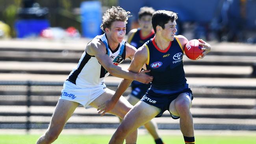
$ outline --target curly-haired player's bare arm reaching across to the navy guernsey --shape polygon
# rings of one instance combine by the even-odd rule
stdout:
[[[153,79],[152,77],[145,74],[145,72],[136,74],[134,72],[129,72],[120,66],[113,65],[111,58],[106,54],[106,48],[104,44],[97,39],[93,39],[93,41],[87,45],[86,52],[89,55],[94,55],[98,59],[99,63],[113,76],[136,80],[142,83],[150,83]]]

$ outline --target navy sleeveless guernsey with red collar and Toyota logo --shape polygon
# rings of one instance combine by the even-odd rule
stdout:
[[[148,50],[146,67],[154,79],[151,87],[154,92],[173,94],[188,88],[183,68],[183,48],[177,37],[170,42],[165,50],[160,50],[154,38],[145,43]]]

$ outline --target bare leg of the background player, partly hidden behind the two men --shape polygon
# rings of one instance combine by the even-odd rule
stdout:
[[[132,105],[135,105],[137,102],[139,102],[139,98],[133,96],[132,94],[128,95],[127,100]],[[160,136],[158,135],[158,127],[157,127],[156,122],[154,122],[154,120],[150,120],[144,126],[148,130],[150,135],[152,135],[152,137],[154,138],[156,144],[163,144]]]

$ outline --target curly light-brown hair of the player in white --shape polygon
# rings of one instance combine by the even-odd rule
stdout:
[[[122,21],[127,24],[127,20],[129,17],[132,17],[132,15],[129,15],[130,11],[125,11],[122,7],[112,6],[111,9],[106,10],[106,13],[104,13],[102,17],[102,24],[100,25],[101,30],[105,32],[106,28],[110,28],[112,22],[115,21]]]

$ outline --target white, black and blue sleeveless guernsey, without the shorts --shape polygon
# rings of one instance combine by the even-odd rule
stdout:
[[[108,54],[112,59],[113,65],[119,65],[119,63],[124,61],[126,52],[125,41],[122,41],[118,48],[115,51],[112,51],[111,48],[109,48],[105,33],[103,35],[96,36],[95,39],[100,39],[100,41],[105,44],[106,54]],[[78,65],[72,70],[72,72],[70,72],[67,80],[80,88],[97,87],[104,83],[104,78],[108,75],[109,72],[100,65],[96,57],[91,56],[84,51]]]

